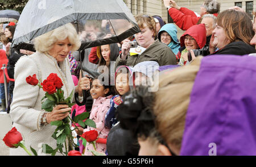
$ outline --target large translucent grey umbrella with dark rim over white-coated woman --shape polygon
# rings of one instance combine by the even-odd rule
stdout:
[[[34,51],[34,38],[67,23],[76,24],[80,50],[121,42],[141,32],[122,0],[34,0],[28,1],[20,15],[12,47]],[[91,32],[97,37],[90,38]]]

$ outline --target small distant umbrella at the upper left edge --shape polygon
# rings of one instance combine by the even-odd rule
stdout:
[[[15,10],[0,10],[0,23],[19,20],[19,12]]]

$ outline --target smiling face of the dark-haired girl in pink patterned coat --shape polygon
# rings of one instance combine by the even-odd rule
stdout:
[[[92,87],[90,88],[90,95],[92,99],[98,99],[98,97],[105,97],[109,92],[109,88],[104,88],[104,86],[100,83],[100,80],[94,79],[92,82]]]

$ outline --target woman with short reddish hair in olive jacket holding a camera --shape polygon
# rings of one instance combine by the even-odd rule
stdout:
[[[130,41],[123,41],[122,53],[115,61],[115,67],[121,65],[134,66],[144,61],[156,61],[160,66],[177,65],[172,50],[162,42],[154,40],[156,36],[154,18],[148,15],[137,15],[135,19],[141,29],[141,32],[135,34],[135,40],[139,46],[135,49],[136,53],[131,55],[129,53],[130,48],[132,48]]]

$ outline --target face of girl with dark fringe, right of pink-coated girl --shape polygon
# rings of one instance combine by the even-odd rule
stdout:
[[[121,73],[117,75],[117,78],[115,78],[115,89],[117,89],[117,92],[121,96],[130,91],[128,74]]]

